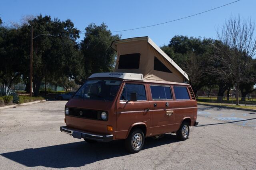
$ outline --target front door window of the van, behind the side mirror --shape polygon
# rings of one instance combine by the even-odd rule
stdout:
[[[137,100],[146,100],[145,86],[140,84],[125,84],[120,100],[128,101],[131,93],[137,93]]]

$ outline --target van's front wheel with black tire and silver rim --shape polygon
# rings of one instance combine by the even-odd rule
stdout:
[[[133,144],[133,139],[136,141]],[[128,152],[137,153],[143,148],[145,141],[144,133],[140,128],[134,128],[125,140],[125,148]],[[137,146],[136,146],[137,145]]]

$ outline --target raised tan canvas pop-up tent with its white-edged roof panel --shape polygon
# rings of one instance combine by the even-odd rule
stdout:
[[[179,83],[189,80],[185,71],[149,37],[114,41],[111,47],[118,54],[114,72],[142,73],[148,80]]]

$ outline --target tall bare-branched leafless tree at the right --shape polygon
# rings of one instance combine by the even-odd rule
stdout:
[[[215,55],[216,61],[223,65],[219,73],[223,77],[232,77],[236,86],[236,105],[239,105],[241,83],[246,83],[252,78],[248,79],[244,75],[250,70],[250,61],[256,52],[254,29],[255,24],[251,20],[231,16],[217,33],[222,43],[216,48],[220,55]]]

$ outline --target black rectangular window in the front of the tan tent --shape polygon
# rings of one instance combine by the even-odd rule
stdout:
[[[118,69],[138,69],[140,66],[140,53],[120,55]]]

